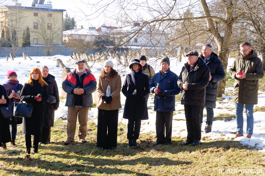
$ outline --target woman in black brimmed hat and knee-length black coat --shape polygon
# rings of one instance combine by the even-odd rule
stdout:
[[[129,68],[132,73],[126,75],[122,92],[126,96],[123,118],[128,119],[127,139],[128,147],[138,146],[141,120],[148,119],[147,102],[145,97],[149,95],[149,77],[142,73],[142,65],[138,59],[132,60]],[[136,94],[135,94],[136,93]]]

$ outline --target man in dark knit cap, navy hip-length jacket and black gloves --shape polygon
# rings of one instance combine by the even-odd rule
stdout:
[[[169,69],[170,60],[167,56],[160,59],[160,66],[161,70],[154,75],[149,86],[150,92],[155,93],[154,110],[156,111],[157,140],[153,145],[164,144],[167,146],[171,143],[175,95],[180,93],[180,88],[177,86],[177,75]]]

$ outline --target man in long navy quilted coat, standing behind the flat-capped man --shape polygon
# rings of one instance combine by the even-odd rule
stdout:
[[[216,106],[216,95],[218,82],[222,81],[225,77],[224,67],[222,62],[218,59],[217,54],[212,52],[212,46],[205,44],[202,47],[202,54],[200,56],[210,69],[209,84],[206,87],[205,105],[207,112],[207,120],[205,125],[205,133],[212,131],[213,122],[213,108]],[[201,110],[201,124],[203,119],[203,109]]]

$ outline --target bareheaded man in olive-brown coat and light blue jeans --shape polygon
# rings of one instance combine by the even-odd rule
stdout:
[[[229,75],[235,78],[234,93],[232,101],[236,103],[237,134],[232,139],[243,135],[243,110],[244,105],[247,113],[247,138],[253,133],[253,107],[258,103],[259,79],[263,78],[263,67],[261,59],[251,48],[251,44],[243,42],[240,44],[240,56],[236,57]]]

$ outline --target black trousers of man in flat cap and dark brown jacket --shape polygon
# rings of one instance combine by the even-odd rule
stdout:
[[[186,125],[187,125],[187,140],[201,140],[201,109],[202,106],[184,105]]]

